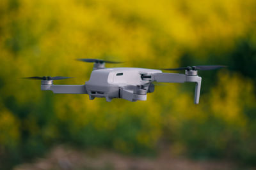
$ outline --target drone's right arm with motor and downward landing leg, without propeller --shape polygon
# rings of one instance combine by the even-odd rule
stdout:
[[[195,99],[194,103],[199,103],[200,89],[202,78],[197,75],[197,71],[186,71],[186,74],[177,73],[156,73],[152,74],[152,81],[164,82],[164,83],[184,83],[195,82]]]

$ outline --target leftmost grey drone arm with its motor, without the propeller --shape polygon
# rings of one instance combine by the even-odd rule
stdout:
[[[52,80],[41,82],[41,90],[51,90],[54,94],[87,94],[85,85],[54,85]]]

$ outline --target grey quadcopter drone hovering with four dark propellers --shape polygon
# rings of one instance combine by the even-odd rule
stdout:
[[[106,63],[118,64],[121,62],[100,59],[77,59],[83,62],[93,62],[93,71],[90,80],[84,85],[54,85],[54,80],[62,80],[65,76],[33,76],[29,79],[41,80],[41,90],[51,90],[54,94],[88,94],[91,100],[95,97],[105,97],[110,102],[114,98],[128,101],[146,101],[147,93],[154,92],[154,82],[195,84],[194,103],[199,103],[202,78],[198,70],[220,69],[225,66],[188,66],[170,69],[145,69],[138,67],[105,67]],[[163,73],[161,70],[179,71],[185,74]]]

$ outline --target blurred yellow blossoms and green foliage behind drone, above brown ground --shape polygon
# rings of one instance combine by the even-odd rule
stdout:
[[[134,156],[164,148],[189,159],[256,163],[256,1],[0,1],[0,168],[63,143]],[[26,76],[72,76],[108,67],[222,64],[193,83],[159,85],[147,101],[54,95]]]

